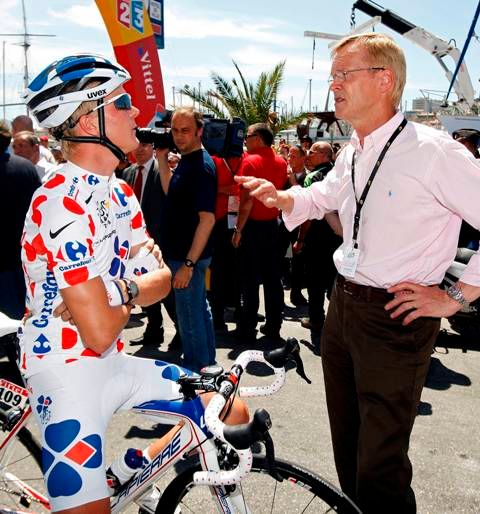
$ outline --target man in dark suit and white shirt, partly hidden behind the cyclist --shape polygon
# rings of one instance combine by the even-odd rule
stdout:
[[[130,184],[142,207],[145,224],[150,236],[155,243],[160,245],[160,231],[162,230],[163,204],[165,193],[163,192],[158,174],[157,161],[154,158],[153,146],[148,143],[140,143],[134,152],[136,164],[129,166],[123,172],[123,179]],[[173,293],[162,300],[145,307],[147,314],[147,327],[142,337],[130,341],[130,344],[156,344],[163,342],[163,316],[161,304],[165,306],[168,315],[177,325],[175,315],[175,299]],[[171,345],[179,345],[178,332]]]

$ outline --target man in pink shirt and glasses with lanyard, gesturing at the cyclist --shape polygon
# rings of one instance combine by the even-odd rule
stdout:
[[[480,166],[465,148],[398,112],[406,77],[388,36],[333,50],[337,117],[355,129],[325,180],[277,191],[239,182],[283,210],[287,228],[337,210],[343,243],[321,352],[335,464],[364,513],[414,513],[411,430],[440,317],[480,296],[480,255],[445,292],[462,218],[480,227]]]

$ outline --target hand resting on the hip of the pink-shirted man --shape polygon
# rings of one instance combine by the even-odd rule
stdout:
[[[448,318],[462,307],[438,286],[401,282],[389,287],[388,292],[395,294],[395,298],[385,305],[385,310],[392,311],[390,317],[398,318],[404,312],[411,311],[405,316],[403,325],[421,317]]]

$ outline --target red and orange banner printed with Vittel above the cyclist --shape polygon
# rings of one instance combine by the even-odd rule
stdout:
[[[140,109],[136,121],[145,127],[156,112],[165,110],[165,92],[155,34],[143,0],[96,0],[110,36],[117,61],[132,76],[125,89]],[[163,1],[161,33],[163,38]],[[159,8],[158,5],[154,10]],[[156,11],[156,16],[158,11]],[[156,23],[158,19],[156,18]],[[157,24],[158,25],[158,24]],[[156,30],[159,30],[158,27]]]

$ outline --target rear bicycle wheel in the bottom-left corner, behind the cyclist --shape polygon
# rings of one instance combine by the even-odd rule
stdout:
[[[0,512],[50,512],[41,469],[42,450],[23,427],[0,452]]]

